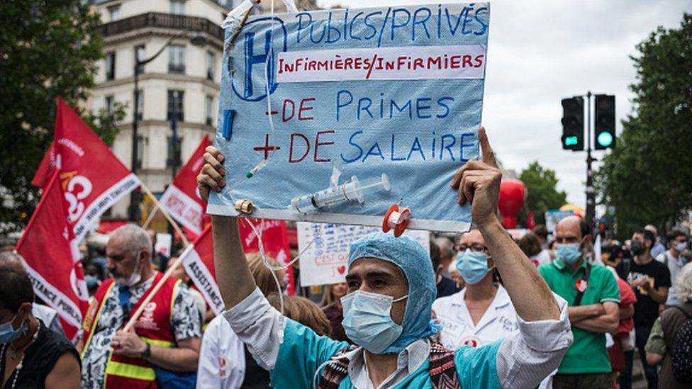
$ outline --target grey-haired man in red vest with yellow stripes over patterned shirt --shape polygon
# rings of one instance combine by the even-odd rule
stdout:
[[[163,276],[152,269],[151,256],[150,237],[136,225],[123,225],[108,239],[106,267],[112,278],[101,283],[84,316],[82,387],[194,380],[189,372],[199,358],[201,320],[194,298],[175,278],[164,281],[133,328],[123,331]]]

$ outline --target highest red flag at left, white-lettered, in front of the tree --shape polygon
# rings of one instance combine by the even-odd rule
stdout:
[[[65,192],[67,222],[77,242],[96,218],[140,185],[62,98],[57,103],[55,137],[31,183],[45,186],[56,169]]]

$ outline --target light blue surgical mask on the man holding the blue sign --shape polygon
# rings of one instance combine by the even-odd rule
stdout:
[[[407,298],[394,300],[389,295],[355,291],[341,298],[347,337],[373,354],[380,354],[401,335],[403,327],[391,320],[391,305]]]

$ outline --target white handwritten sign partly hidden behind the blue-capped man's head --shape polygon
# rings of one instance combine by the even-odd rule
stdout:
[[[362,225],[298,222],[301,286],[344,282],[351,243],[377,231]],[[403,235],[418,241],[430,254],[430,232],[406,230]]]

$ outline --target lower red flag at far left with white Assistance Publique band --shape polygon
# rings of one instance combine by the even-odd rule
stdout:
[[[76,255],[77,242],[68,229],[59,179],[55,172],[48,180],[15,249],[26,261],[34,292],[57,310],[67,338],[74,342],[89,295],[82,262]]]

